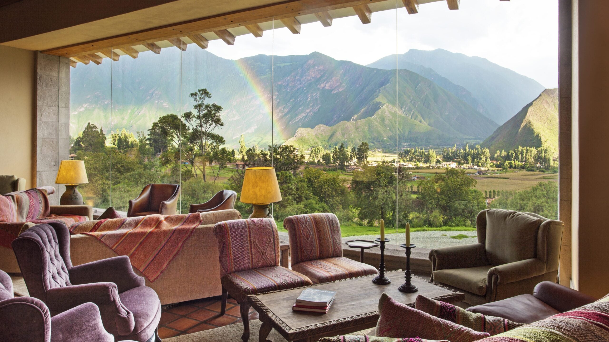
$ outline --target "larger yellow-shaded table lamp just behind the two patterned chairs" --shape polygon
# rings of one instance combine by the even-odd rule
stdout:
[[[241,203],[252,204],[253,212],[250,218],[273,218],[269,211],[269,204],[281,201],[275,168],[248,167],[245,169],[239,200]]]

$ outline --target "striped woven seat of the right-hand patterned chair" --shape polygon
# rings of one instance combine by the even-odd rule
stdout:
[[[328,259],[300,262],[293,264],[292,270],[305,274],[314,284],[378,273],[375,267],[346,257],[329,257]]]

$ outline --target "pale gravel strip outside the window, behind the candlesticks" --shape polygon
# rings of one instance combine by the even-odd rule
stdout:
[[[459,234],[463,234],[468,236],[467,238],[452,239],[451,236],[458,236]],[[362,235],[362,236],[350,236],[344,237],[343,239],[347,240],[375,240],[380,236],[378,235]],[[473,238],[472,238],[473,237]],[[391,240],[388,243],[389,246],[395,247],[395,233],[393,234],[385,234],[385,238]],[[405,242],[404,234],[398,234],[398,245],[400,243]],[[410,243],[414,243],[417,247],[420,248],[439,248],[446,246],[455,246],[455,245],[469,245],[470,243],[477,243],[476,239],[476,231],[452,231],[452,232],[438,232],[438,231],[429,231],[429,232],[411,232],[410,233]]]

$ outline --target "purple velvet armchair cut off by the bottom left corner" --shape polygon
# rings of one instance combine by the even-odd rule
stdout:
[[[4,271],[0,271],[0,322],[5,342],[114,342],[95,304],[80,304],[51,318],[39,299],[13,298],[13,283]]]

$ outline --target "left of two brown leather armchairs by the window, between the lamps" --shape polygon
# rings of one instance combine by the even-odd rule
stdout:
[[[178,208],[178,184],[148,184],[135,200],[129,200],[127,217],[173,215]]]

